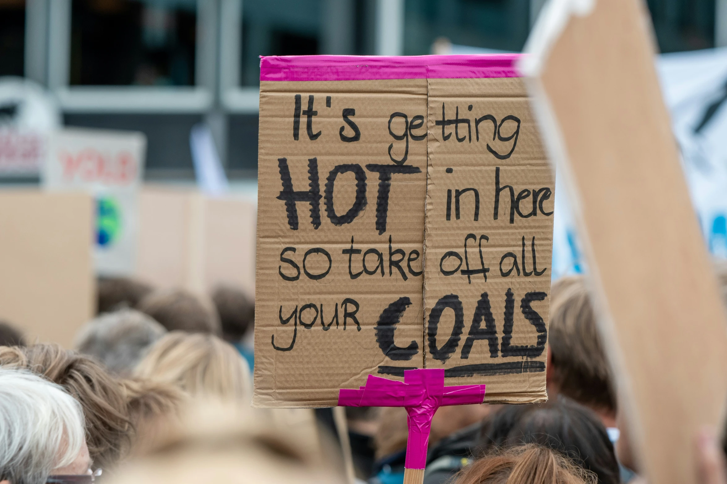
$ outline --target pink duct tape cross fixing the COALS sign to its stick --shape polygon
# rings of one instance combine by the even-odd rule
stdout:
[[[441,406],[482,403],[485,385],[444,386],[444,369],[404,371],[404,381],[369,375],[358,390],[338,390],[339,406],[403,406],[409,438],[406,441],[406,469],[424,469],[427,464],[429,431],[434,412]]]

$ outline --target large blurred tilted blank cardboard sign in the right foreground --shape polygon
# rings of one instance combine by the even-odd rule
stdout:
[[[694,438],[721,427],[725,313],[636,0],[554,0],[523,70],[571,194],[601,333],[649,482],[694,483]]]

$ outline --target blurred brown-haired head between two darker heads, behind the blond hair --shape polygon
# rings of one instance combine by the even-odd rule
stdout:
[[[141,300],[137,309],[169,331],[220,334],[220,318],[212,303],[188,291],[154,291]]]

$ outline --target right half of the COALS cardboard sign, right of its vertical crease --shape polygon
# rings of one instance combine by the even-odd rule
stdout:
[[[459,123],[457,131],[454,125],[444,126],[446,140],[441,124],[435,124],[443,119],[443,105],[446,119],[470,120],[469,127]],[[491,118],[483,118],[487,115],[494,117],[499,131]],[[426,367],[444,368],[448,385],[486,383],[486,401],[543,401],[555,184],[525,86],[520,78],[430,79],[428,124]],[[508,137],[512,139],[501,139]],[[513,187],[499,192],[497,220],[496,178],[501,188]],[[512,223],[511,194],[522,197],[515,202]],[[457,255],[447,257],[447,253]],[[459,258],[459,271],[449,274]],[[507,276],[502,275],[501,260],[505,274],[512,269]],[[467,277],[462,271],[468,266],[489,271]],[[505,315],[508,292],[512,316]],[[432,309],[439,300],[447,302],[447,309],[437,324]],[[475,318],[480,300],[489,303],[489,312]],[[528,308],[542,321],[536,321]],[[526,319],[526,313],[536,324]],[[494,319],[494,330],[485,334],[488,317]],[[506,320],[511,325],[509,348],[503,344]],[[515,345],[521,348],[512,348]]]

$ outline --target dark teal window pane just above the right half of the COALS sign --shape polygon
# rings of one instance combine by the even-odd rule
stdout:
[[[404,54],[430,54],[433,42],[521,51],[530,0],[406,0]]]

